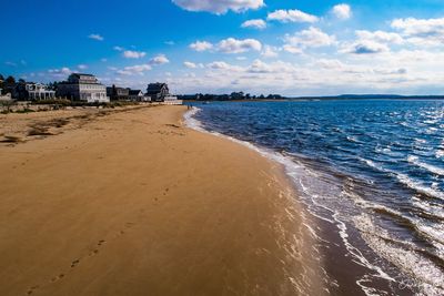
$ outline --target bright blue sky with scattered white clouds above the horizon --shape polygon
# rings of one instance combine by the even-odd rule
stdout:
[[[444,94],[443,0],[0,0],[0,73],[178,94]]]

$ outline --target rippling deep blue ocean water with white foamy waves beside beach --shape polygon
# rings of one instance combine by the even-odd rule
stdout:
[[[365,269],[354,282],[364,294],[444,295],[443,101],[193,106],[206,131],[285,159],[303,204],[320,222],[315,236],[333,239],[325,233],[336,232],[340,243],[324,245],[326,261],[341,245],[344,262]],[[333,269],[326,273],[341,286]]]

